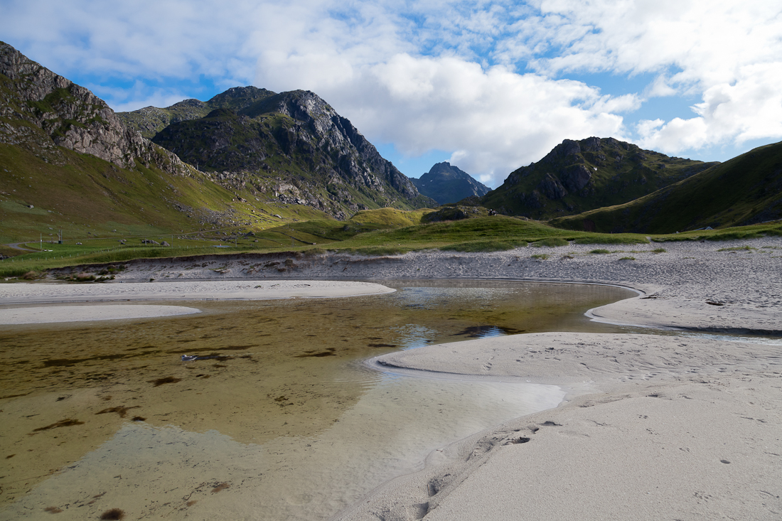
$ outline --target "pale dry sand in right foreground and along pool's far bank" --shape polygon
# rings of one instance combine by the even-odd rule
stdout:
[[[590,253],[597,248],[623,251]],[[591,315],[680,334],[536,333],[375,361],[398,372],[555,383],[569,397],[432,452],[421,472],[338,518],[782,519],[780,239],[141,260],[119,278],[515,278],[637,289]]]

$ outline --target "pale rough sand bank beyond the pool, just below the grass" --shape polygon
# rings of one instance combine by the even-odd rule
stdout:
[[[594,250],[612,253],[590,253]],[[638,289],[644,295],[601,308],[595,313],[601,320],[700,331],[782,333],[777,319],[782,312],[780,238],[719,243],[528,246],[493,253],[425,250],[379,257],[343,253],[242,254],[142,259],[124,266],[127,269],[117,274],[117,280],[127,282],[149,278],[156,282],[515,278],[616,284]],[[65,271],[91,273],[100,269]]]

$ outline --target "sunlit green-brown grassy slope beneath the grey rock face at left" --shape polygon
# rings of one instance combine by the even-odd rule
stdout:
[[[251,203],[203,174],[175,176],[140,163],[128,170],[67,149],[55,164],[0,144],[0,187],[0,243],[56,240],[60,229],[66,241],[81,242],[192,232],[217,238],[329,218],[274,200]]]

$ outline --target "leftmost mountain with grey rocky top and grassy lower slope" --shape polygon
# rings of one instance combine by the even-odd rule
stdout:
[[[88,89],[0,42],[0,243],[58,229],[73,239],[323,217],[278,199],[249,203],[127,128]]]

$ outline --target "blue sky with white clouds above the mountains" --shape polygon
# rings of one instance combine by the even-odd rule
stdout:
[[[782,0],[0,0],[0,40],[116,111],[315,92],[409,177],[491,188],[563,139],[782,141]]]

